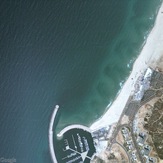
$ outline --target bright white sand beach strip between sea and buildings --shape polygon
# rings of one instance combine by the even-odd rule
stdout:
[[[149,66],[152,68],[156,68],[157,66],[163,67],[163,3],[158,12],[155,25],[139,57],[134,63],[129,78],[114,103],[110,107],[107,107],[108,111],[90,126],[92,130],[118,122],[129,95],[134,90],[133,82],[135,83],[141,72],[145,71]]]

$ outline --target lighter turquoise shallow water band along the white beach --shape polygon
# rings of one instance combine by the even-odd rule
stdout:
[[[86,90],[82,90],[81,96],[84,94],[84,97],[79,100],[75,97],[75,102],[74,98],[70,99],[68,106],[63,106],[71,108],[73,115],[71,110],[67,109],[61,116],[59,128],[74,122],[90,125],[104,114],[106,106],[113,102],[129,76],[132,65],[154,25],[160,1],[150,1],[148,4],[145,1],[125,2],[123,1],[120,7],[116,6],[118,11],[111,16],[110,20],[114,23],[112,28],[115,28],[117,33],[101,45],[104,51],[99,56],[103,60],[99,62],[98,69],[92,68],[92,74],[95,73],[92,82]],[[112,30],[106,33],[109,38]],[[94,56],[91,59],[94,60]]]

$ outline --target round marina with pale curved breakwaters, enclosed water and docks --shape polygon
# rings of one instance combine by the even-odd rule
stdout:
[[[49,125],[49,147],[53,163],[90,163],[96,153],[91,130],[73,124],[54,135],[53,124],[58,109],[56,105]]]

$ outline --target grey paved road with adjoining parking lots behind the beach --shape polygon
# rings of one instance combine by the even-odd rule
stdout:
[[[158,84],[161,85],[161,87],[159,87],[159,89],[157,88]],[[110,138],[110,146],[109,146],[108,150],[111,149],[112,144],[117,143],[115,138],[116,138],[118,132],[121,130],[121,128],[128,127],[128,128],[130,128],[131,137],[132,137],[135,149],[137,151],[139,160],[141,161],[141,163],[144,162],[143,156],[140,153],[138,144],[136,142],[136,138],[134,136],[133,120],[134,120],[135,115],[137,114],[138,110],[140,109],[140,107],[143,106],[145,103],[149,102],[154,97],[157,97],[158,95],[157,95],[156,91],[158,91],[158,90],[161,91],[162,89],[163,89],[163,74],[155,71],[152,76],[152,79],[151,79],[151,88],[149,90],[147,90],[147,92],[145,92],[145,96],[143,97],[142,101],[140,101],[140,102],[133,101],[132,96],[129,97],[129,100],[127,101],[126,106],[121,114],[121,117],[120,117],[118,123],[117,123],[116,129],[114,130],[112,137]],[[124,124],[124,125],[120,124],[122,117],[124,115],[129,116],[129,120],[130,120],[130,124],[131,124],[130,126],[129,126],[129,124]]]

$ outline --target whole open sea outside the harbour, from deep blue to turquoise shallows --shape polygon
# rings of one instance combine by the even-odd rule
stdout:
[[[0,158],[49,163],[48,125],[90,125],[111,103],[160,0],[8,0],[0,5]]]

